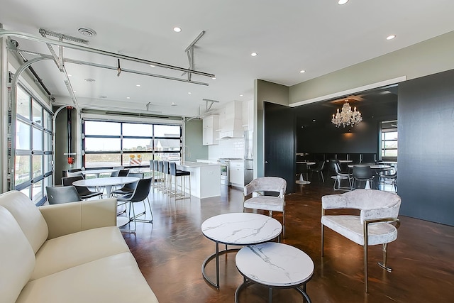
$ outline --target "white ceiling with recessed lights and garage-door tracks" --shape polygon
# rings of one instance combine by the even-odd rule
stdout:
[[[454,30],[452,0],[350,0],[343,6],[337,0],[0,1],[6,30],[40,36],[38,29],[45,28],[87,38],[77,30],[92,28],[97,35],[87,38],[90,48],[184,68],[189,67],[184,50],[205,31],[196,43],[195,70],[216,79],[192,79],[209,86],[126,72],[117,77],[116,70],[65,64],[81,107],[145,111],[150,102],[152,113],[178,116],[197,116],[199,106],[203,113],[203,99],[220,101],[213,109],[253,99],[254,79],[291,86]],[[182,31],[175,33],[175,26]],[[386,40],[391,34],[397,38]],[[44,43],[14,39],[23,50],[50,54]],[[258,56],[251,57],[253,52]],[[117,64],[114,57],[67,48],[63,55]],[[126,60],[121,67],[187,77]],[[57,103],[65,104],[69,94],[55,63],[46,60],[33,68]]]

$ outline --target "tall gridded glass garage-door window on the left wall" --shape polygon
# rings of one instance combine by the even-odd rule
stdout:
[[[17,87],[14,188],[36,204],[52,186],[52,112]]]

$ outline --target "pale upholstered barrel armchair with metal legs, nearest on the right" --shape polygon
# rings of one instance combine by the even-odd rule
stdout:
[[[401,199],[397,194],[375,189],[356,189],[345,194],[321,197],[321,255],[324,226],[364,248],[364,283],[367,292],[367,247],[382,244],[384,270],[387,267],[387,243],[397,239]],[[359,215],[327,215],[328,209],[359,209]]]

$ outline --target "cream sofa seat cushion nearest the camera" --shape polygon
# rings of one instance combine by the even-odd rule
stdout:
[[[131,253],[55,272],[28,282],[17,303],[157,302]]]

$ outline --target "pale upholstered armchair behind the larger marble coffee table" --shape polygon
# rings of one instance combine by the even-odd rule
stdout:
[[[244,187],[243,211],[244,209],[262,209],[282,212],[282,237],[285,238],[285,191],[287,182],[280,177],[259,177],[252,180]],[[265,196],[265,192],[276,192],[275,196]],[[257,197],[248,196],[257,194]]]

